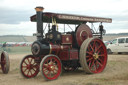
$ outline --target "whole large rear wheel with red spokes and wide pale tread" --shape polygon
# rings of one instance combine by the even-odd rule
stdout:
[[[107,50],[98,38],[86,39],[80,48],[80,63],[86,73],[100,73],[107,63]]]

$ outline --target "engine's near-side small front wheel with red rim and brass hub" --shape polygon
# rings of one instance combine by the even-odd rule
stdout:
[[[61,74],[61,62],[55,56],[46,56],[44,59],[41,70],[46,80],[57,79]]]

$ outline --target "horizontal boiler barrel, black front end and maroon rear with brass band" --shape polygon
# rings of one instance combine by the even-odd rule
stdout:
[[[69,45],[56,45],[52,43],[44,43],[35,41],[32,44],[31,51],[35,56],[47,55],[47,54],[58,54],[61,50],[70,49]]]

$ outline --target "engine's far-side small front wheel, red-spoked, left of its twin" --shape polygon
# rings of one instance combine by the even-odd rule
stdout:
[[[21,73],[26,78],[35,77],[39,73],[39,66],[33,55],[25,56],[21,62]]]

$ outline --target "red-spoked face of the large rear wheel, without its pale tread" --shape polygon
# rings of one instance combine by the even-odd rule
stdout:
[[[103,71],[107,62],[107,52],[101,40],[94,39],[90,42],[86,51],[86,61],[88,68],[93,73]]]

